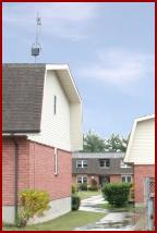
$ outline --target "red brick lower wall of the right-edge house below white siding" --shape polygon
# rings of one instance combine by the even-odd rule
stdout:
[[[144,180],[155,177],[155,165],[134,165],[135,203],[144,203]]]

